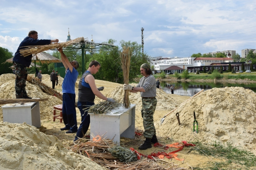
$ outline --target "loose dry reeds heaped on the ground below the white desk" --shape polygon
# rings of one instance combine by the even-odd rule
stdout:
[[[88,140],[79,139],[74,143],[70,142],[67,147],[75,153],[87,156],[95,163],[111,170],[136,170],[136,169],[147,169],[147,170],[161,170],[161,169],[172,169],[178,170],[183,168],[178,168],[177,165],[173,165],[171,162],[168,163],[164,160],[159,159],[148,159],[143,158],[141,160],[129,163],[120,162],[117,158],[113,157],[108,148],[114,148],[116,144],[110,139],[105,139],[101,137],[100,140]]]

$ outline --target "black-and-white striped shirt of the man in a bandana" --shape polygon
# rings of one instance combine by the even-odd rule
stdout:
[[[136,87],[142,87],[145,92],[140,92],[141,97],[156,97],[156,79],[154,76],[142,77]]]

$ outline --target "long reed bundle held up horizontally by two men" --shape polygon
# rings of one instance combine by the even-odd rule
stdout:
[[[46,50],[49,50],[49,49],[63,48],[63,47],[71,46],[73,44],[77,44],[77,43],[80,43],[80,42],[84,42],[84,37],[76,38],[74,40],[67,41],[67,42],[64,42],[64,43],[54,43],[54,44],[51,43],[49,45],[25,46],[25,47],[28,47],[28,48],[21,49],[20,54],[23,57],[26,57],[26,56],[31,55],[31,54],[37,54],[39,52],[43,52],[43,51],[46,51]]]

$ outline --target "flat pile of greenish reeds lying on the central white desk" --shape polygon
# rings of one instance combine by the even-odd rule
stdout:
[[[102,101],[100,103],[97,103],[91,107],[83,109],[85,112],[88,111],[89,113],[94,113],[98,115],[105,115],[106,113],[110,112],[111,109],[120,107],[122,103],[119,103],[117,99],[114,99],[116,102],[108,102],[108,101]]]

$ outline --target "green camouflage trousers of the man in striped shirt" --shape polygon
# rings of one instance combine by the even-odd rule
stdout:
[[[142,99],[142,109],[141,116],[143,118],[143,127],[144,127],[144,137],[152,138],[153,135],[156,134],[155,126],[154,126],[154,112],[157,104],[157,99]]]

